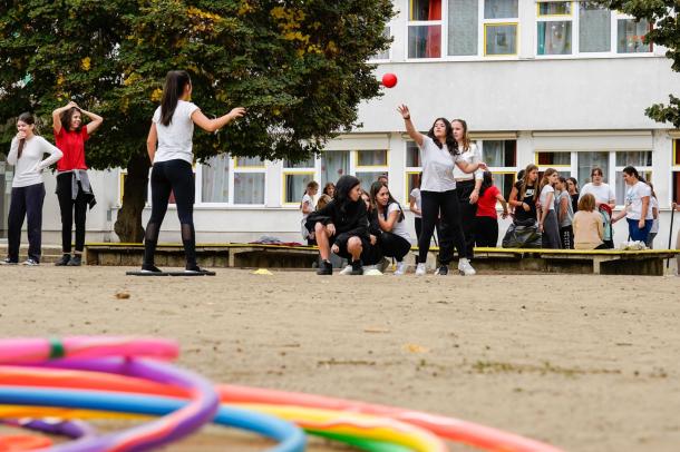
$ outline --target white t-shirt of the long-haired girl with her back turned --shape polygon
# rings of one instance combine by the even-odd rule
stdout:
[[[161,107],[156,108],[153,121],[158,131],[158,149],[156,149],[154,163],[177,159],[188,161],[190,164],[194,163],[194,154],[192,151],[194,121],[192,120],[192,115],[197,109],[198,107],[195,104],[178,100],[173,114],[173,120],[169,125],[164,126],[161,124]]]

